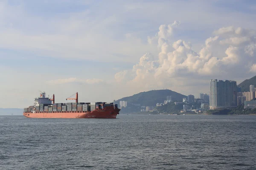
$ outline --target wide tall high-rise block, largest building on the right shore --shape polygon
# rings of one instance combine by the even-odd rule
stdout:
[[[230,108],[237,106],[236,81],[210,80],[210,109]]]

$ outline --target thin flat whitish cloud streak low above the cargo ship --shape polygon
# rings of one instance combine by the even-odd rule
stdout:
[[[50,85],[61,85],[61,84],[66,84],[66,83],[86,83],[86,84],[98,84],[101,82],[104,82],[102,79],[78,79],[75,77],[70,77],[67,79],[56,79],[56,80],[49,80],[47,84]]]

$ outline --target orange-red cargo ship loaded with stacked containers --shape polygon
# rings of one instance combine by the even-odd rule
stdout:
[[[52,99],[51,99],[52,98]],[[107,102],[78,102],[78,93],[76,93],[76,102],[73,103],[55,103],[54,94],[52,97],[46,97],[42,92],[40,97],[35,98],[35,104],[24,108],[23,115],[28,118],[103,118],[115,119],[119,114],[115,101]]]

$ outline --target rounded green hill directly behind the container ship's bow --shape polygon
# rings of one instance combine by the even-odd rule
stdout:
[[[184,97],[187,97],[171,90],[152,90],[124,97],[116,100],[116,103],[119,104],[120,101],[124,100],[127,101],[128,105],[140,104],[141,106],[156,106],[157,103],[163,103],[166,100],[166,96],[172,96],[172,100],[175,101],[182,101]]]

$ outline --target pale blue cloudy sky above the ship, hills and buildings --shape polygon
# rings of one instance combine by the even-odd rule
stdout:
[[[256,75],[255,18],[254,0],[0,0],[0,108],[239,84]]]

